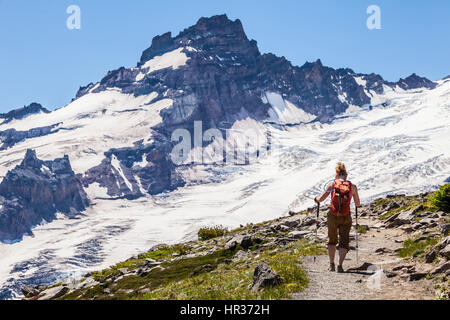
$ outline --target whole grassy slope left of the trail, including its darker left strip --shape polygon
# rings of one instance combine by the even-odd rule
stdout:
[[[217,250],[195,257],[168,259],[178,253],[179,246],[164,247],[95,273],[98,285],[69,293],[63,299],[281,299],[304,289],[308,283],[301,267],[301,257],[323,254],[316,245],[299,240],[282,250],[276,246],[253,248],[240,259],[234,259],[235,250]],[[132,271],[145,263],[145,259],[160,260],[145,275],[131,274],[120,277],[121,268]],[[267,263],[283,279],[280,286],[251,292],[253,271],[262,262]]]

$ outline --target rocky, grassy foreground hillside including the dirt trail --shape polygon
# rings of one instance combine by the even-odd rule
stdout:
[[[429,196],[388,196],[362,206],[359,259],[353,228],[344,273],[328,270],[328,208],[321,209],[316,244],[311,208],[203,240],[156,246],[83,279],[22,291],[27,299],[448,299],[450,217],[432,209]]]

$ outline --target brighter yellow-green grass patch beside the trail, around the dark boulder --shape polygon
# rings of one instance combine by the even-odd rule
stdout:
[[[241,299],[282,299],[292,292],[303,290],[308,279],[303,271],[300,258],[306,255],[325,253],[323,248],[300,240],[283,250],[273,248],[263,253],[252,252],[248,258],[221,264],[210,273],[153,290],[143,299],[183,299],[183,300],[241,300]],[[280,286],[260,292],[250,291],[253,271],[262,262],[267,263],[283,279]]]

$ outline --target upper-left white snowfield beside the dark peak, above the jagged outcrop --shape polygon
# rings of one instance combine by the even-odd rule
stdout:
[[[52,134],[26,139],[2,151],[0,177],[18,164],[29,148],[43,159],[67,154],[76,173],[86,172],[100,164],[104,152],[111,148],[128,147],[151,137],[150,128],[162,120],[160,111],[172,105],[170,99],[152,103],[156,96],[150,93],[135,97],[120,89],[109,89],[84,95],[49,114],[0,124],[0,131],[54,126]]]

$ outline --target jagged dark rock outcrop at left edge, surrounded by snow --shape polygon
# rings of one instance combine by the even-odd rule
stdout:
[[[86,193],[67,156],[43,161],[27,150],[22,163],[0,184],[0,241],[14,241],[56,213],[73,216],[88,205]]]

